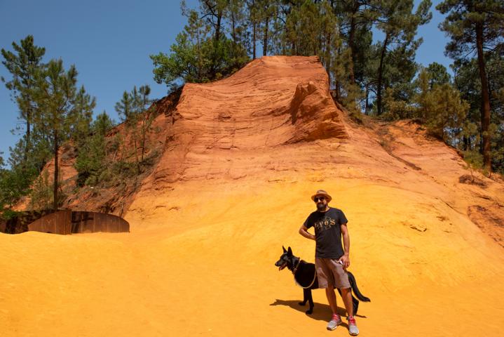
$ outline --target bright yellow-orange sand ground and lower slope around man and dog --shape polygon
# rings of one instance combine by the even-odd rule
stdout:
[[[503,249],[466,216],[429,191],[301,178],[187,182],[149,216],[131,209],[129,234],[0,234],[0,335],[348,336],[345,324],[325,329],[323,290],[308,316],[292,274],[273,265],[282,245],[313,262],[297,230],[324,187],[372,299],[360,336],[503,336]]]

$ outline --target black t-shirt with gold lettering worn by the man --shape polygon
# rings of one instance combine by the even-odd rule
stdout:
[[[341,258],[343,246],[341,245],[340,225],[348,223],[341,209],[329,207],[328,211],[311,213],[304,226],[315,227],[315,257]]]

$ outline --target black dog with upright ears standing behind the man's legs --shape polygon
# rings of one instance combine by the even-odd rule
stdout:
[[[287,267],[288,270],[292,272],[294,275],[294,279],[296,283],[303,288],[303,302],[299,302],[300,305],[305,305],[306,301],[310,304],[310,309],[306,310],[306,313],[310,315],[313,312],[313,298],[311,297],[311,289],[318,289],[318,280],[317,273],[315,272],[315,264],[308,263],[304,260],[301,260],[297,256],[292,255],[292,249],[286,250],[283,246],[283,253],[280,256],[280,259],[275,263],[278,270],[282,270]],[[350,281],[351,289],[355,296],[362,300],[363,302],[371,302],[369,298],[362,295],[359,289],[357,288],[357,282],[355,282],[355,277],[351,272],[348,272],[348,280]],[[341,296],[341,291],[338,289],[338,292]],[[353,302],[353,315],[357,315],[357,310],[359,309],[359,300],[352,296]]]

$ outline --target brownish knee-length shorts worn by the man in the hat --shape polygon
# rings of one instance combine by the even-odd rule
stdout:
[[[348,275],[343,269],[343,265],[337,261],[332,258],[315,258],[319,288],[350,288]]]

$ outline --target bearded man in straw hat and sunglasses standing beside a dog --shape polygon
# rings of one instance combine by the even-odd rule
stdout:
[[[329,207],[332,197],[325,190],[318,190],[311,197],[317,205],[317,211],[308,216],[299,228],[299,234],[307,239],[315,240],[315,268],[317,270],[318,286],[325,288],[325,294],[332,310],[332,319],[327,324],[328,330],[334,330],[341,324],[337,313],[336,293],[334,288],[341,290],[341,298],[348,314],[348,332],[352,336],[359,334],[353,317],[352,294],[346,268],[350,265],[350,236],[345,214],[340,209]],[[308,228],[315,227],[315,235],[308,233]],[[343,247],[341,246],[343,236]]]

